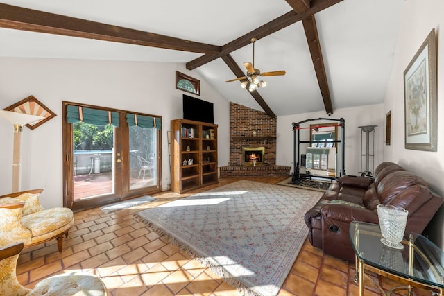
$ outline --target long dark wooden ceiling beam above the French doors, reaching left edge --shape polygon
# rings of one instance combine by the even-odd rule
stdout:
[[[220,46],[211,44],[192,42],[166,35],[112,26],[65,15],[56,15],[4,3],[0,3],[0,27],[194,53],[216,54],[221,51]]]

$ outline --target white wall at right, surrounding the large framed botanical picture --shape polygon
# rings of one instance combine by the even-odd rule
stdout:
[[[424,177],[430,187],[444,196],[444,38],[441,26],[444,25],[444,1],[407,0],[402,10],[400,32],[395,49],[393,73],[388,84],[384,103],[384,113],[391,110],[392,145],[384,148],[384,159],[398,162]],[[413,59],[422,42],[435,28],[436,59],[438,73],[438,151],[426,152],[404,148],[404,70]],[[444,211],[442,207],[427,229],[432,241],[444,246]]]

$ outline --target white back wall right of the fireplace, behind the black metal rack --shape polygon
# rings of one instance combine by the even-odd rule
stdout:
[[[345,173],[357,175],[361,171],[361,125],[377,125],[375,128],[375,166],[382,162],[384,146],[384,117],[383,105],[367,105],[362,107],[350,107],[334,110],[332,119],[345,120]],[[329,118],[323,112],[312,112],[278,116],[278,140],[276,148],[276,163],[293,168],[293,130],[292,123],[298,123],[307,119]],[[308,127],[314,123],[328,123],[329,121],[310,121],[300,125],[301,128]],[[331,121],[339,123],[338,121]],[[339,128],[338,133],[341,133]],[[365,134],[364,134],[365,137]],[[339,138],[340,139],[340,138]],[[309,130],[300,130],[300,141],[309,140]],[[365,142],[364,142],[365,144]],[[340,144],[339,144],[340,145]],[[302,146],[302,145],[301,145]],[[370,150],[371,152],[371,150]],[[302,153],[302,151],[301,151]],[[341,154],[341,149],[338,149]],[[370,158],[371,161],[371,158]],[[339,166],[339,169],[341,166]],[[370,164],[371,168],[371,164]],[[293,171],[293,169],[291,170]]]

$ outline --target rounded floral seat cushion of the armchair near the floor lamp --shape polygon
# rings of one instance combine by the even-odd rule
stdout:
[[[22,217],[22,225],[31,230],[33,236],[42,236],[64,227],[73,220],[71,209],[55,207]]]

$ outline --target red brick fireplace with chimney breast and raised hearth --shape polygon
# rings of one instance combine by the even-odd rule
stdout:
[[[262,163],[246,162],[243,148],[264,148]],[[276,165],[276,119],[265,112],[230,103],[230,165],[221,177],[286,177],[289,166]]]

